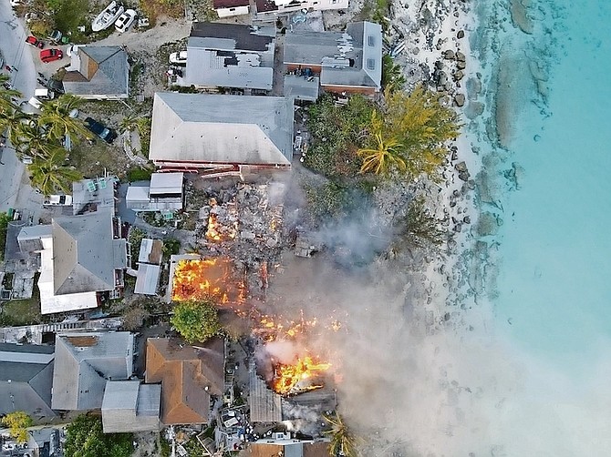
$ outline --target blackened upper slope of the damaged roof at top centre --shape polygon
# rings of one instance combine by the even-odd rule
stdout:
[[[194,22],[192,37],[208,38],[205,46],[212,49],[266,51],[274,41],[274,27],[256,25]]]

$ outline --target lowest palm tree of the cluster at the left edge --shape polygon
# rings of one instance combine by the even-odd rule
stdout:
[[[51,195],[57,190],[69,193],[72,183],[82,179],[82,175],[74,168],[65,165],[66,151],[61,147],[52,147],[48,157],[35,157],[27,166],[32,180],[32,187],[38,188],[44,195]]]

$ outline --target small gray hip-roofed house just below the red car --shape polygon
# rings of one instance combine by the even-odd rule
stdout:
[[[129,96],[128,53],[120,46],[78,46],[62,79],[67,94],[94,100]]]

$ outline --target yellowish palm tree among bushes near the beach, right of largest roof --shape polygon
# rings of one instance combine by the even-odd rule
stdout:
[[[377,111],[371,115],[371,127],[375,147],[363,147],[357,150],[358,156],[363,157],[361,173],[373,171],[376,175],[385,175],[394,167],[405,171],[406,163],[401,157],[403,145],[394,137],[384,138],[383,122],[378,117]]]

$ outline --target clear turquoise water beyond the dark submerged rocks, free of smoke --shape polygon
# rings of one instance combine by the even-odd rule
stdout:
[[[558,14],[532,13],[554,35],[549,92],[546,106],[515,95],[525,103],[508,147],[523,173],[501,197],[494,303],[499,325],[533,356],[584,370],[609,357],[611,340],[611,2],[538,3]]]

